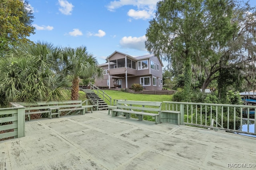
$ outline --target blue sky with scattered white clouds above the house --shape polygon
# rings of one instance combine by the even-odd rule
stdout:
[[[28,0],[35,34],[28,39],[59,47],[86,46],[99,64],[119,51],[132,57],[149,54],[146,29],[158,0]],[[250,0],[256,6],[256,0]],[[166,66],[166,62],[163,62]]]

